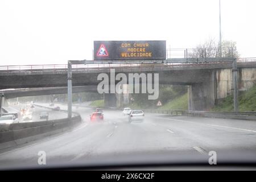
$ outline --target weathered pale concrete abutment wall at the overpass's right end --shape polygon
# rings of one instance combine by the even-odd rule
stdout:
[[[233,93],[232,69],[204,72],[206,81],[188,86],[188,110],[209,110]],[[245,91],[256,84],[256,68],[238,68],[238,90]]]

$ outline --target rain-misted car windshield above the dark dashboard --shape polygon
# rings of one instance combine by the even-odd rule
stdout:
[[[256,160],[255,5],[1,1],[0,169]]]

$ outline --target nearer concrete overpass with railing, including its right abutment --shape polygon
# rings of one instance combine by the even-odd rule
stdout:
[[[216,104],[218,99],[233,92],[233,60],[230,57],[185,57],[119,62],[86,61],[85,65],[72,65],[72,85],[96,86],[100,82],[97,80],[97,75],[99,73],[109,75],[110,69],[115,69],[116,74],[125,73],[126,75],[128,73],[159,73],[159,84],[189,85],[189,110],[207,110]],[[256,80],[255,58],[237,59],[237,69],[238,89],[254,84]],[[67,76],[67,64],[0,66],[0,89],[64,87],[67,86]],[[53,90],[55,89],[48,90],[47,93],[52,94]],[[67,92],[67,89],[63,88],[63,92]],[[25,93],[23,92],[24,95]],[[114,94],[106,94],[105,100],[115,100]],[[115,102],[109,102],[109,105],[115,105]]]

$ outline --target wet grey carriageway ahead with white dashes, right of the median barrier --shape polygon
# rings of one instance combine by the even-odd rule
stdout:
[[[36,110],[43,110],[38,107]],[[120,110],[104,110],[103,122],[90,122],[94,109],[73,106],[82,123],[73,129],[0,151],[0,168],[38,164],[46,152],[48,165],[81,162],[97,156],[245,150],[256,153],[256,121],[197,118],[146,113],[143,122],[129,123]],[[53,114],[53,113],[52,113]],[[59,117],[59,116],[58,116]]]

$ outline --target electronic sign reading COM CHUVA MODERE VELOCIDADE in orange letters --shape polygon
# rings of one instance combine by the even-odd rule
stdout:
[[[94,60],[165,60],[165,40],[94,41]]]

